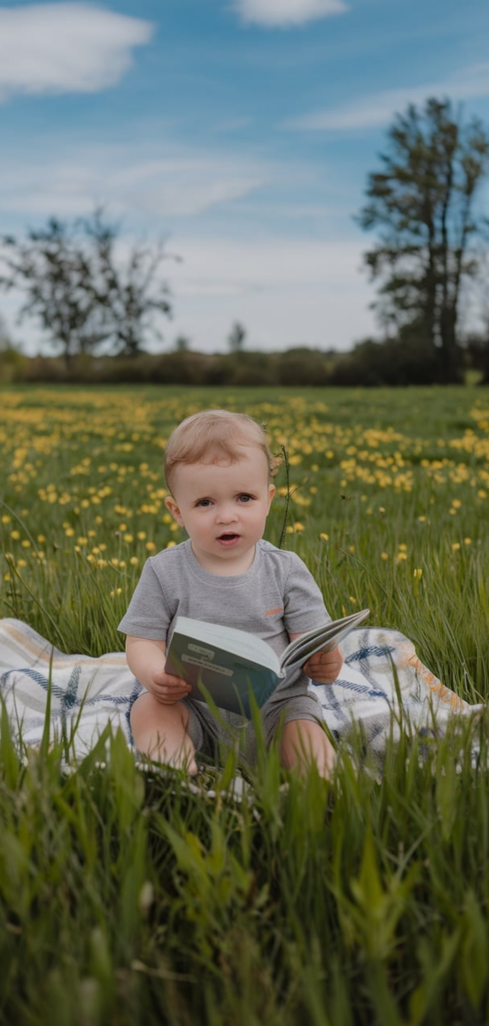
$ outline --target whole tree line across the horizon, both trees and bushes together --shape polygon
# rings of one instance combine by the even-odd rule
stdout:
[[[175,353],[149,357],[149,339],[161,340],[161,320],[172,313],[161,268],[168,254],[162,243],[136,244],[121,253],[118,229],[101,209],[73,224],[51,218],[25,238],[4,236],[0,289],[24,293],[20,319],[35,318],[48,333],[65,364],[63,371],[60,361],[50,364],[60,377],[74,373],[76,363],[78,377],[91,367],[96,378],[110,372],[121,380],[129,373],[122,367],[128,360],[134,380],[154,364],[153,372],[168,374],[168,381],[180,373],[185,384],[200,366],[204,374],[224,374],[228,384],[253,378],[254,364],[255,378],[275,373],[276,383],[286,384],[281,379],[297,363],[296,384],[312,368],[311,384],[448,384],[463,379],[469,360],[489,382],[489,218],[481,189],[489,171],[489,135],[479,119],[465,123],[449,100],[429,98],[422,109],[410,105],[396,116],[379,160],[356,220],[376,233],[365,264],[377,285],[381,338],[364,340],[349,354],[303,348],[274,356],[250,353],[243,361],[246,330],[236,322],[228,338],[229,366],[218,356],[200,354],[199,361],[185,338],[177,340]],[[474,294],[486,324],[471,340],[462,306]],[[119,361],[118,371],[109,355]],[[38,361],[38,372],[47,373],[47,366]]]

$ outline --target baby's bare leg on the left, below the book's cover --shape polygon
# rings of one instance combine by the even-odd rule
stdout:
[[[194,776],[195,748],[187,726],[188,709],[183,702],[163,705],[149,692],[140,695],[130,710],[130,729],[139,751]]]

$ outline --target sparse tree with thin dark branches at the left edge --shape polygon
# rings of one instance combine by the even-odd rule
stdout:
[[[2,239],[0,288],[24,292],[18,320],[36,317],[67,364],[104,343],[134,355],[153,329],[154,313],[170,314],[166,285],[157,280],[162,245],[134,245],[123,262],[115,255],[117,234],[96,209],[71,225],[50,218],[26,239]]]

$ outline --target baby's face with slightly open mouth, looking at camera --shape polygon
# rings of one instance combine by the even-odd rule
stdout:
[[[265,453],[249,447],[235,463],[177,466],[175,498],[166,505],[205,569],[243,574],[253,562],[274,491]]]

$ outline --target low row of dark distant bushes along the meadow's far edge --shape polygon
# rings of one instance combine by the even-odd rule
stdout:
[[[466,366],[483,367],[489,345],[467,346]],[[278,353],[142,353],[136,357],[78,354],[68,366],[63,357],[26,357],[11,347],[0,349],[0,382],[80,385],[188,385],[233,387],[332,385],[434,385],[440,378],[436,355],[420,334],[394,340],[365,339],[347,353],[296,347]],[[489,371],[488,371],[489,377]],[[460,378],[461,380],[461,378]]]

